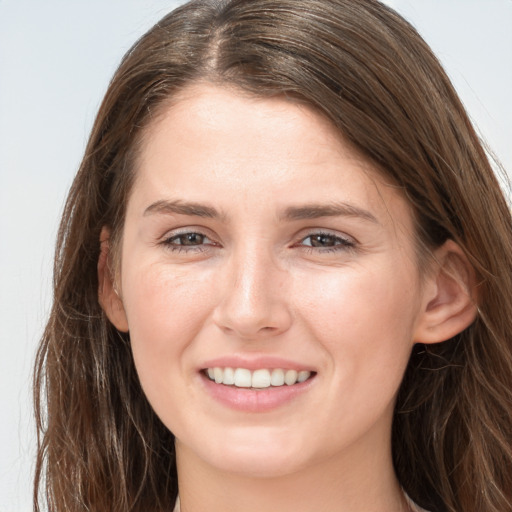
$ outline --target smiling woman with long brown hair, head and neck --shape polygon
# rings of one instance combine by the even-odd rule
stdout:
[[[511,234],[392,10],[177,9],[68,198],[35,500],[44,471],[56,511],[512,510]]]

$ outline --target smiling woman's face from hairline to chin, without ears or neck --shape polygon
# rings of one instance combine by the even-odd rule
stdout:
[[[425,309],[399,191],[307,107],[207,85],[136,172],[117,325],[178,456],[279,475],[388,453]]]

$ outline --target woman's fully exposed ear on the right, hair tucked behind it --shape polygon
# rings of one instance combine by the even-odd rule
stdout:
[[[471,325],[477,314],[475,272],[462,249],[446,241],[434,252],[434,269],[424,283],[416,343],[439,343]]]

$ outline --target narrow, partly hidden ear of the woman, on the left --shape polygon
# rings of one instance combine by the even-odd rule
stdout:
[[[98,300],[108,319],[119,331],[128,332],[128,320],[123,301],[115,287],[110,262],[110,231],[103,227],[100,234],[98,259]]]

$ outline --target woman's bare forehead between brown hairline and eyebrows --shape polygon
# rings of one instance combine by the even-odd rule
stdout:
[[[312,108],[207,84],[184,89],[148,125],[134,192],[228,212],[349,201],[411,222],[402,194]]]

